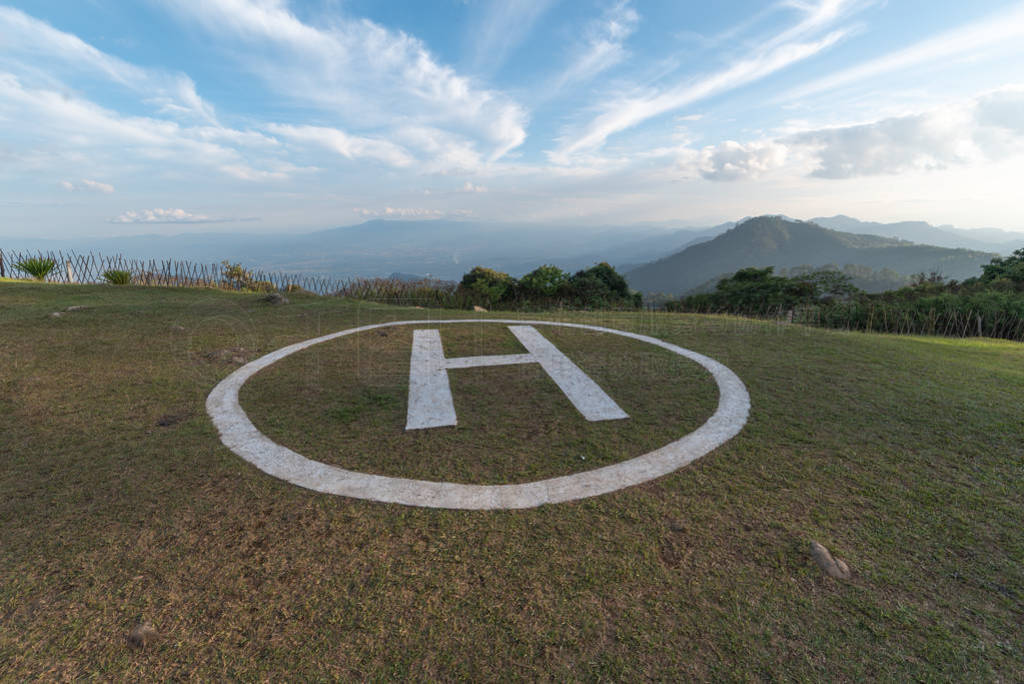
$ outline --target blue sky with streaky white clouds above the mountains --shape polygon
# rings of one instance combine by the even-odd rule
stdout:
[[[0,4],[0,236],[1024,228],[1024,3]]]

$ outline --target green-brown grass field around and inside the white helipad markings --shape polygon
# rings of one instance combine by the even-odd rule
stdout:
[[[490,314],[258,299],[0,284],[0,680],[1024,679],[1020,344],[551,314],[722,361],[750,422],[643,485],[447,511],[271,478],[204,403],[292,342]],[[586,423],[532,367],[471,369],[452,374],[459,426],[407,435],[411,330],[392,331],[297,353],[242,403],[311,458],[497,483],[636,456],[717,400],[691,362],[542,329],[628,421]],[[449,355],[518,350],[501,326],[442,336]],[[160,639],[132,648],[142,621]]]

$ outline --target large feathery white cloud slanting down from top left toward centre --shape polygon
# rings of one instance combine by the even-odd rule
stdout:
[[[218,40],[234,39],[241,65],[274,91],[322,109],[350,130],[422,125],[479,137],[497,160],[526,137],[526,113],[438,63],[418,39],[373,22],[299,20],[279,0],[167,0]]]

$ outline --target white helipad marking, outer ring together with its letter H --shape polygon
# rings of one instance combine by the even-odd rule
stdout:
[[[532,344],[532,350],[528,354],[509,355],[505,357],[480,356],[468,357],[468,359],[445,359],[443,357],[438,358],[436,354],[430,356],[424,351],[426,347],[421,348],[421,353],[427,355],[423,356],[425,360],[420,362],[414,361],[413,364],[409,428],[422,429],[431,427],[432,425],[454,424],[454,412],[450,416],[446,411],[450,399],[444,397],[442,391],[446,387],[446,382],[443,387],[440,384],[440,379],[443,378],[445,369],[469,368],[472,366],[495,365],[497,362],[539,362],[542,367],[547,365],[548,367],[545,370],[548,371],[552,379],[559,384],[562,391],[565,392],[566,396],[572,400],[577,409],[588,420],[628,418],[617,405],[614,405],[611,397],[601,396],[604,394],[603,390],[597,388],[596,385],[593,387],[588,385],[589,379],[586,378],[586,369],[582,369],[582,374],[577,373],[573,371],[575,367],[571,365],[571,361],[567,361],[567,359],[561,361],[559,359],[560,352],[557,349],[551,348],[550,343],[546,344],[543,338],[542,340],[532,339],[532,333],[529,332],[529,330],[532,330],[532,327],[557,326],[610,333],[652,344],[689,358],[703,367],[717,383],[719,388],[718,409],[703,425],[693,432],[628,461],[586,472],[534,482],[517,484],[464,484],[360,473],[313,461],[287,446],[274,442],[257,430],[239,403],[239,390],[249,378],[282,358],[315,344],[379,328],[417,326],[428,331],[436,331],[439,326],[481,324],[504,324],[515,327],[521,333],[521,335],[517,334],[517,337],[520,337],[521,341],[524,340],[526,344]],[[536,333],[537,331],[534,332]],[[430,335],[421,333],[418,337],[421,340],[428,340],[429,343]],[[572,368],[568,368],[569,366],[572,366]],[[577,371],[581,370],[577,369]],[[426,382],[428,384],[433,383],[432,391],[435,392],[434,394],[424,393],[416,389],[418,382],[416,379],[417,373],[420,373],[421,382],[423,382],[423,378],[427,378],[428,381]],[[564,378],[567,384],[559,382],[559,377]],[[592,381],[590,382],[593,384]],[[438,390],[439,387],[441,388],[440,390]],[[420,390],[422,389],[420,387]],[[418,391],[419,393],[417,393]],[[429,412],[417,413],[417,411],[414,411],[414,404],[417,401],[420,401],[423,407],[427,408],[440,407],[440,418],[436,415],[431,418]],[[257,358],[227,376],[210,392],[209,397],[207,397],[206,407],[207,412],[213,419],[214,425],[216,425],[220,432],[221,441],[228,448],[263,472],[298,484],[299,486],[325,494],[410,506],[456,509],[510,509],[529,508],[542,504],[556,504],[595,497],[646,482],[678,470],[725,443],[742,429],[750,413],[750,396],[742,381],[722,364],[702,354],[653,337],[581,324],[472,318],[400,320],[361,326],[305,340],[304,342],[298,342]],[[423,409],[423,411],[427,411],[427,409]],[[593,417],[587,415],[588,411],[593,412]],[[421,421],[423,424],[421,425],[416,421]],[[494,447],[500,450],[502,444],[495,444]]]

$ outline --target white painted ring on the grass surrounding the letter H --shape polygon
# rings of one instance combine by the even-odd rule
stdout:
[[[610,333],[647,342],[685,356],[702,366],[718,384],[718,410],[703,425],[665,446],[628,461],[572,475],[520,484],[459,484],[431,482],[387,475],[371,475],[312,461],[274,442],[256,429],[239,403],[239,390],[259,371],[314,344],[377,328],[395,326],[436,326],[452,324],[513,324],[560,326]],[[738,433],[750,414],[751,398],[743,382],[725,366],[695,351],[684,349],[646,335],[610,328],[550,320],[471,318],[449,320],[396,320],[351,328],[297,342],[251,361],[224,378],[206,399],[206,411],[220,433],[220,440],[232,452],[268,475],[299,486],[355,499],[369,499],[407,506],[458,509],[531,508],[596,497],[667,475],[696,461]]]

